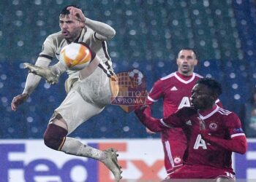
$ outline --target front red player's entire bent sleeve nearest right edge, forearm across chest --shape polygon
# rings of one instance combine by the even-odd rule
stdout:
[[[227,132],[228,135],[230,135],[230,139],[226,140],[211,136],[209,135],[210,132],[208,130],[201,131],[201,135],[203,139],[209,143],[215,143],[228,151],[244,154],[247,150],[247,142],[238,116],[234,113],[226,116],[225,127],[227,127]]]

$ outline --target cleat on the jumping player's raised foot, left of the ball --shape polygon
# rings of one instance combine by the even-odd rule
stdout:
[[[38,76],[41,76],[48,82],[49,84],[56,84],[59,82],[59,76],[56,74],[53,74],[53,72],[50,70],[49,67],[41,67],[32,65],[30,63],[23,63],[24,68],[29,69],[30,73],[36,74]]]

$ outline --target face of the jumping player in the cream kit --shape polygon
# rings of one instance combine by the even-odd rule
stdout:
[[[64,38],[72,42],[80,35],[83,29],[83,23],[81,23],[75,15],[60,15],[59,27],[61,28],[61,33]]]

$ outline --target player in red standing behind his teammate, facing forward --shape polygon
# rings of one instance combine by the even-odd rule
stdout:
[[[189,98],[192,87],[202,76],[195,74],[194,67],[197,65],[195,51],[189,48],[180,50],[176,59],[178,71],[173,72],[154,83],[148,94],[147,109],[163,98],[163,116],[173,114],[178,108],[190,106]],[[154,133],[146,129],[148,133]],[[171,173],[183,165],[184,151],[187,149],[187,139],[181,128],[162,130],[162,145],[165,152],[165,169]],[[178,140],[177,140],[178,138]]]

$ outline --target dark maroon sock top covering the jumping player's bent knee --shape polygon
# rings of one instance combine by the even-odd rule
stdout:
[[[64,137],[67,135],[67,130],[59,127],[56,124],[49,124],[44,133],[45,146],[50,149],[59,150]]]

